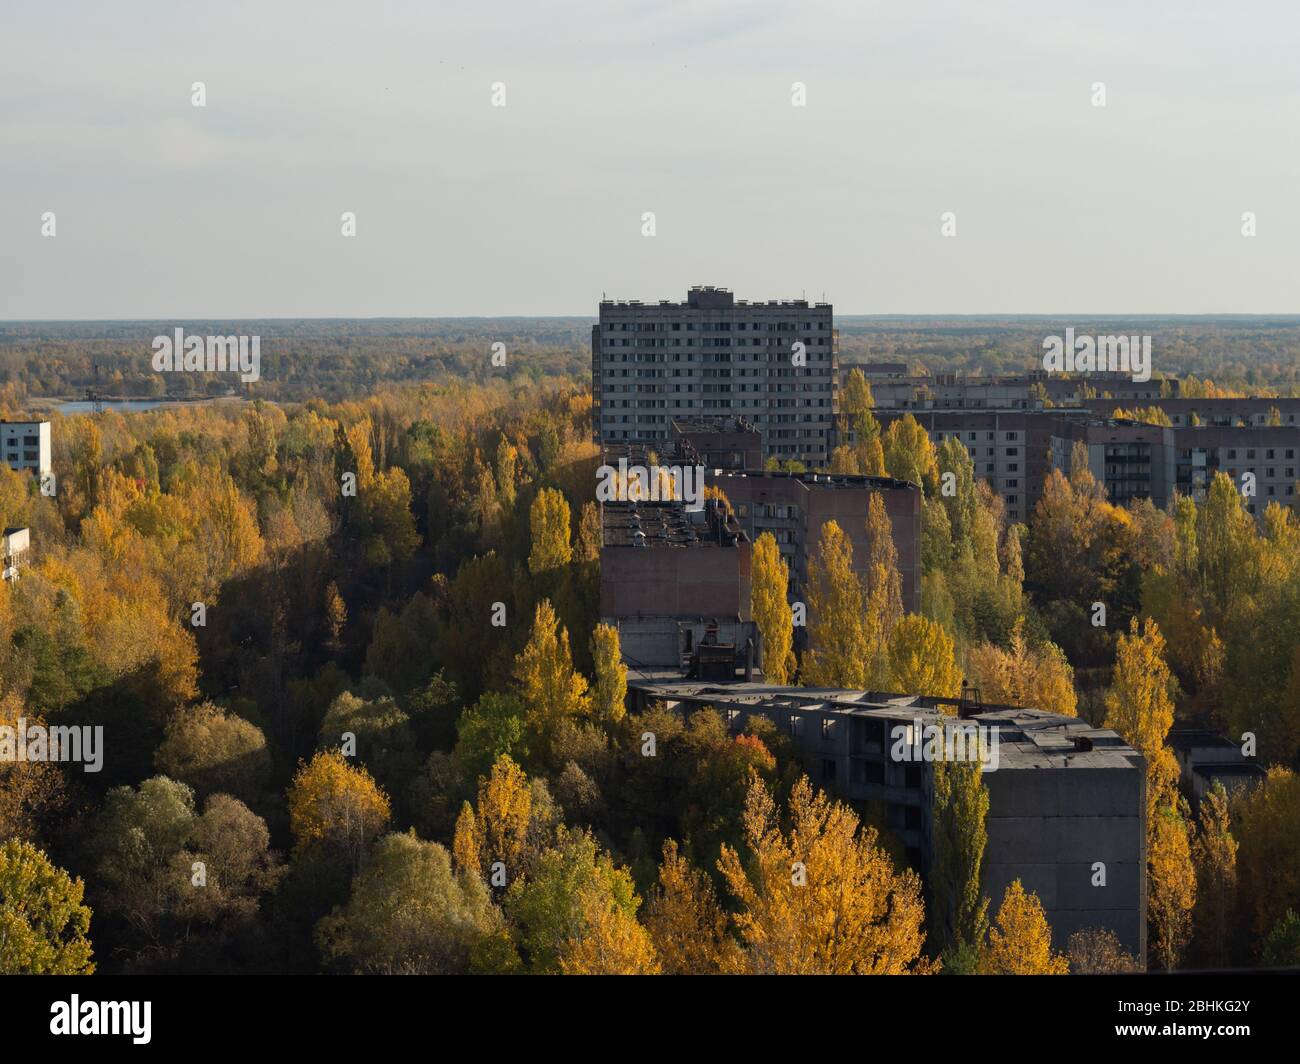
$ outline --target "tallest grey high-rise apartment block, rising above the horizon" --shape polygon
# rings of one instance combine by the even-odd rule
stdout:
[[[693,287],[684,303],[603,300],[592,394],[599,444],[662,446],[675,418],[731,415],[758,429],[764,458],[824,466],[838,410],[832,307],[715,287]]]

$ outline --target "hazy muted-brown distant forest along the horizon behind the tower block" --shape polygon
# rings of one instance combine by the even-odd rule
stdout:
[[[230,375],[155,373],[151,342],[182,326],[200,336],[261,337],[261,380],[250,395],[344,402],[381,385],[585,379],[590,317],[272,319],[0,323],[0,397],[79,398],[86,389],[133,398],[221,395]],[[1043,337],[1150,333],[1156,376],[1195,375],[1242,393],[1300,394],[1300,317],[867,317],[841,316],[840,359],[906,362],[913,372],[1023,372]],[[491,363],[506,345],[506,366]],[[96,377],[96,367],[99,375]]]

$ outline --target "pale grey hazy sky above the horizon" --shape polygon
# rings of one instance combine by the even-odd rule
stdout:
[[[1296,312],[1297,30],[1291,0],[4,0],[0,319],[589,315],[689,284]]]

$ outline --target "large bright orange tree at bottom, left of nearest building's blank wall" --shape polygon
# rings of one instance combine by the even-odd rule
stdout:
[[[926,911],[920,879],[896,871],[846,805],[814,793],[800,778],[789,799],[789,831],[776,803],[754,780],[745,799],[751,855],[724,845],[718,862],[737,909],[742,970],[753,974],[924,973]]]

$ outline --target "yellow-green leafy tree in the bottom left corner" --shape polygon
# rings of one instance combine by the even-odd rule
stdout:
[[[0,974],[88,976],[84,884],[21,839],[0,845]]]

